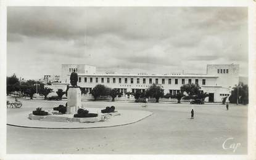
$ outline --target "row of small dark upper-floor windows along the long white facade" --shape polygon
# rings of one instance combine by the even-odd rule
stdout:
[[[112,78],[112,82],[115,83],[116,79]],[[84,78],[84,81],[87,82],[87,78]],[[81,77],[78,78],[78,82],[81,82]],[[93,82],[93,78],[89,78],[89,82]],[[99,78],[95,78],[95,82],[99,82]],[[104,83],[104,78],[101,78],[101,82]],[[128,82],[128,78],[125,78],[125,83]],[[107,83],[110,83],[110,78],[107,78]],[[118,78],[118,83],[122,83],[122,78]],[[133,84],[133,78],[130,78],[130,83]],[[137,78],[136,79],[136,83],[139,84],[140,83],[140,79]],[[142,79],[142,83],[146,84],[146,78]],[[188,79],[188,83],[191,84],[192,83],[192,79]],[[149,84],[152,84],[152,78],[149,78]],[[159,84],[159,79],[156,78],[155,79],[155,84]],[[162,79],[162,84],[165,84],[165,79]],[[168,84],[171,84],[171,79],[168,79]],[[178,79],[175,79],[175,84],[178,84]],[[185,79],[181,79],[181,84],[185,84]],[[195,79],[195,84],[199,84],[199,79]],[[202,79],[202,85],[205,85],[205,79]]]

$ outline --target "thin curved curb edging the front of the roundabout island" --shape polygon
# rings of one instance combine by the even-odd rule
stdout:
[[[128,122],[125,124],[117,124],[117,125],[112,125],[112,126],[100,126],[100,127],[75,127],[75,128],[56,128],[56,127],[29,127],[29,126],[19,126],[19,125],[14,125],[14,124],[6,124],[7,126],[14,126],[14,127],[22,127],[22,128],[31,128],[31,129],[97,129],[97,128],[107,128],[107,127],[118,127],[118,126],[126,126],[128,124],[133,124],[139,121],[142,121],[142,119],[145,119],[149,116],[151,116],[153,113],[145,116],[144,118],[138,119],[137,121],[133,122]]]

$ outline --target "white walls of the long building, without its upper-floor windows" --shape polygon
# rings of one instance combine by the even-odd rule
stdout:
[[[91,88],[97,84],[104,84],[110,88],[126,89],[126,92],[132,92],[132,89],[147,89],[149,79],[152,79],[152,84],[155,83],[155,79],[158,79],[158,84],[163,86],[164,94],[169,93],[169,90],[180,90],[183,85],[182,79],[185,79],[184,84],[188,84],[188,79],[191,79],[191,83],[195,83],[198,79],[199,86],[204,92],[214,94],[214,102],[221,102],[223,98],[222,94],[229,94],[232,87],[238,84],[239,81],[239,65],[207,65],[207,74],[191,75],[191,74],[179,74],[179,75],[143,75],[143,74],[96,74],[95,66],[88,65],[62,65],[62,82],[69,83],[70,70],[69,68],[77,68],[78,79],[81,78],[81,82],[78,81],[78,86]],[[218,73],[218,69],[228,70],[228,73]],[[85,82],[84,78],[87,78]],[[90,82],[90,78],[93,78],[93,82]],[[96,82],[98,78],[98,82]],[[104,78],[104,82],[101,82],[101,78]],[[109,78],[109,82],[107,82]],[[115,78],[115,83],[113,82]],[[119,78],[122,82],[119,83]],[[125,83],[127,78],[127,83]],[[131,84],[131,78],[133,78],[133,84]],[[139,78],[139,84],[137,84],[137,78]],[[146,83],[143,83],[143,78],[146,79]],[[162,84],[162,79],[165,79],[165,84]],[[171,79],[171,84],[168,84],[168,79]],[[175,79],[178,79],[178,84],[175,84]],[[202,79],[205,79],[205,85],[202,84]],[[64,85],[65,87],[67,84]],[[54,84],[54,89],[61,87],[60,84]],[[62,86],[62,88],[64,88]],[[220,95],[221,94],[221,95]]]

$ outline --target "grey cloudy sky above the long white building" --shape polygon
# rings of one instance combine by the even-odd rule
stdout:
[[[39,79],[68,63],[149,74],[236,63],[247,76],[247,36],[246,7],[8,7],[7,75]]]

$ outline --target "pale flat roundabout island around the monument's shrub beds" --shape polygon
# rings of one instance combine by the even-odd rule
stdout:
[[[88,108],[89,112],[98,112],[100,108]],[[41,128],[41,129],[89,129],[100,127],[115,127],[133,124],[151,116],[150,111],[138,110],[118,110],[117,115],[109,116],[104,121],[78,122],[75,121],[72,114],[56,114],[46,116],[44,119],[29,118],[28,111],[12,113],[7,116],[7,125],[16,127]],[[65,119],[65,120],[64,120]],[[74,121],[66,121],[73,119]]]

